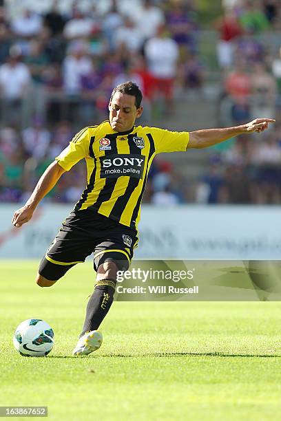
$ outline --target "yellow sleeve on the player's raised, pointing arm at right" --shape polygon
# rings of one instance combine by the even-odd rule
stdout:
[[[152,128],[156,153],[161,152],[184,152],[189,142],[188,131],[169,131],[165,129]]]

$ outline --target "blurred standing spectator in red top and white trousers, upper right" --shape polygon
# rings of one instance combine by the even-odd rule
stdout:
[[[216,21],[216,29],[220,33],[217,45],[218,63],[222,68],[230,67],[234,59],[235,41],[242,34],[242,28],[233,10],[227,10],[225,15]]]

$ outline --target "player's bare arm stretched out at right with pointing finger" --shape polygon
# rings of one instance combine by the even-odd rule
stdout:
[[[226,129],[191,131],[189,133],[187,149],[211,147],[214,144],[224,142],[224,140],[233,138],[233,136],[239,136],[243,133],[253,133],[254,131],[260,133],[261,131],[266,130],[271,122],[275,122],[275,120],[273,118],[256,118],[256,120],[247,123],[247,125],[227,127]]]

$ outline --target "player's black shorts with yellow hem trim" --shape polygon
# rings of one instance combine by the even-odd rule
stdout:
[[[94,270],[105,261],[114,261],[118,270],[127,270],[137,243],[136,229],[91,210],[73,210],[43,257],[39,274],[57,281],[92,252]]]

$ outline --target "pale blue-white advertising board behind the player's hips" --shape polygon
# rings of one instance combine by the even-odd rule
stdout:
[[[0,206],[0,258],[41,259],[73,206],[39,206],[19,229],[11,224],[18,207]],[[171,208],[143,205],[134,258],[279,260],[280,212],[281,206],[188,205],[173,207],[171,218]]]

